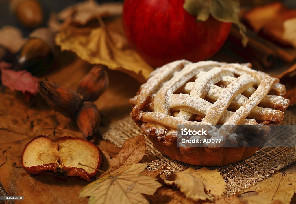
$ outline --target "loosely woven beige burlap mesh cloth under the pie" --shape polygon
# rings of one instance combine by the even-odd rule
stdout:
[[[285,111],[285,117],[282,124],[296,124],[296,116],[289,111]],[[120,121],[111,124],[105,128],[102,136],[105,140],[109,140],[116,146],[121,147],[126,139],[143,134],[141,129],[133,122],[130,116],[121,119]],[[289,137],[289,133],[283,133],[283,137]],[[296,140],[295,137],[289,139]],[[295,142],[295,141],[294,141]],[[157,170],[165,166],[164,172],[169,175],[170,171],[180,171],[186,168],[201,168],[200,166],[193,166],[177,160],[172,160],[157,150],[152,143],[146,138],[146,153],[148,157],[144,157],[145,162],[148,163],[149,170]],[[227,183],[226,195],[234,195],[241,192],[245,188],[263,180],[269,175],[273,174],[292,162],[296,161],[296,148],[261,148],[251,157],[229,164],[226,166],[207,167],[209,169],[218,169],[224,176]]]

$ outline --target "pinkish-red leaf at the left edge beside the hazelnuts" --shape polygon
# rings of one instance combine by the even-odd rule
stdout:
[[[27,91],[32,95],[39,92],[38,78],[33,76],[30,72],[26,70],[14,71],[3,68],[2,65],[0,66],[1,81],[4,86],[9,87],[11,90],[22,91],[22,93]]]

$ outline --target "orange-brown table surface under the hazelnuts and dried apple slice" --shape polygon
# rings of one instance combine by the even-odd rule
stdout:
[[[44,76],[49,81],[76,90],[79,80],[90,70],[91,65],[63,53],[61,58],[69,59],[55,64],[51,74]],[[102,124],[108,125],[128,115],[131,106],[128,99],[139,89],[135,79],[118,71],[108,71],[110,85],[95,101],[102,113]],[[60,136],[82,137],[75,122],[50,109],[39,96],[24,101],[21,93],[5,90],[0,93],[0,195],[23,195],[23,201],[0,201],[1,203],[87,203],[87,198],[78,198],[79,192],[88,182],[76,178],[67,181],[52,178],[52,174],[30,176],[20,168],[20,155],[25,144],[40,134],[51,138]],[[99,139],[97,145],[107,150],[111,157],[119,148]]]

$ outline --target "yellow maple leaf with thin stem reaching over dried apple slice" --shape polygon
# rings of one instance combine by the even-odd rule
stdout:
[[[90,197],[89,203],[149,203],[141,194],[153,195],[162,185],[155,178],[139,173],[146,164],[132,164],[115,176],[104,176],[82,189],[79,197]]]

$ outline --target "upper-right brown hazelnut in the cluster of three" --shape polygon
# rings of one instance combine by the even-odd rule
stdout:
[[[96,101],[109,85],[107,66],[96,65],[78,84],[77,92],[83,96],[83,101]]]

